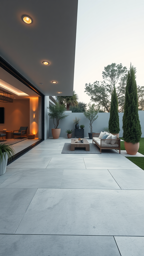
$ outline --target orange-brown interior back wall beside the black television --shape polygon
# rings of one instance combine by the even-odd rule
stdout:
[[[19,130],[20,126],[28,126],[29,134],[29,99],[0,102],[0,107],[4,107],[4,124],[0,124],[0,131],[14,131]]]

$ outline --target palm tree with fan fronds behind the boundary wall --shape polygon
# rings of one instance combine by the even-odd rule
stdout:
[[[69,111],[70,106],[78,105],[78,95],[75,91],[73,91],[73,96],[57,96],[56,98],[60,104],[67,105],[67,111]]]

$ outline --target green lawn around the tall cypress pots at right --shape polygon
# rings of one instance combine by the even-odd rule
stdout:
[[[120,137],[120,138],[121,138],[121,140],[123,140],[122,137]],[[120,142],[120,149],[125,150],[124,141]],[[144,155],[144,138],[141,138],[141,140],[140,140],[138,152],[141,153],[142,155]],[[141,169],[144,170],[144,157],[127,156],[127,158],[131,162],[133,162],[134,164],[136,164],[137,166],[139,166]]]

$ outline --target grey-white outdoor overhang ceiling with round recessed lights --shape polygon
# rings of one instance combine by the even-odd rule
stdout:
[[[73,94],[77,5],[78,0],[0,2],[0,56],[44,95]],[[24,14],[32,24],[22,21]]]

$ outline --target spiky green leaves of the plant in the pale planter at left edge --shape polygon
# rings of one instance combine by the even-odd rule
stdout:
[[[15,151],[13,150],[12,146],[7,144],[7,143],[0,143],[0,164],[3,161],[3,156],[4,159],[6,160],[6,153],[8,155],[8,158],[12,158],[12,156],[15,154]]]

